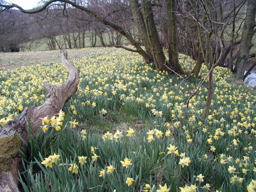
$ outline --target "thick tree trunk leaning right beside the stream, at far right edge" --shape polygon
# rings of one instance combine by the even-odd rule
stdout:
[[[236,78],[243,80],[244,72],[248,60],[248,54],[253,46],[251,39],[254,34],[255,27],[255,14],[256,14],[256,1],[249,0],[246,10],[245,22],[242,32],[241,46],[237,57],[237,73]]]

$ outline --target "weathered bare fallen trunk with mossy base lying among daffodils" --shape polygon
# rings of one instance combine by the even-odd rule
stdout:
[[[76,92],[79,82],[79,70],[67,59],[67,51],[61,52],[63,65],[69,71],[69,77],[61,86],[53,87],[43,84],[47,99],[40,106],[26,107],[14,120],[9,121],[0,131],[0,191],[18,191],[18,170],[22,168],[20,150],[27,153],[28,121],[32,125],[32,132],[40,129],[42,120],[57,114]],[[19,134],[25,143],[20,140]]]

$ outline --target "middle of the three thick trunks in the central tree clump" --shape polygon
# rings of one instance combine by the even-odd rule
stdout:
[[[154,22],[151,1],[143,0],[142,4],[143,4],[144,15],[145,15],[145,26],[146,26],[148,41],[150,42],[150,47],[151,47],[154,62],[156,65],[156,70],[168,71],[167,67],[165,66],[166,60],[163,53],[163,49],[159,42],[159,37],[158,37],[155,22]]]

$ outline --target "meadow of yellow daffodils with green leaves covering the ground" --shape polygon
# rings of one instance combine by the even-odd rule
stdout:
[[[198,79],[157,72],[125,50],[83,50],[91,54],[72,59],[80,82],[65,114],[46,117],[30,135],[19,178],[24,191],[255,189],[253,89],[216,68],[211,112],[202,122],[207,83],[186,109]],[[180,62],[193,68],[184,55]],[[56,86],[67,75],[59,62],[0,71],[0,126],[44,102],[42,81]]]

